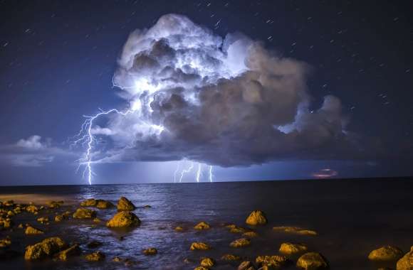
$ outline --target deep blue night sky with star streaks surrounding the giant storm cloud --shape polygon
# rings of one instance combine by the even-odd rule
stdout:
[[[83,115],[125,107],[113,87],[125,42],[169,13],[221,38],[242,33],[279,58],[305,63],[308,111],[317,112],[325,96],[338,97],[354,149],[337,139],[305,153],[253,156],[244,143],[240,153],[251,160],[230,151],[227,162],[214,153],[189,155],[182,145],[164,160],[156,153],[96,164],[93,183],[173,182],[178,163],[171,156],[179,155],[202,156],[204,166],[214,165],[214,180],[412,176],[412,10],[411,1],[2,0],[0,184],[87,183],[83,166],[76,172],[85,148],[70,146]],[[183,181],[193,182],[195,173]]]

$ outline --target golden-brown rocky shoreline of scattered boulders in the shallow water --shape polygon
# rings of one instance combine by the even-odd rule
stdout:
[[[51,223],[61,224],[69,220],[88,220],[95,225],[105,226],[108,229],[125,229],[140,227],[141,222],[137,215],[133,212],[137,207],[125,197],[121,197],[117,204],[113,204],[108,200],[100,200],[90,198],[80,202],[79,207],[74,211],[67,210],[63,201],[49,201],[46,205],[19,204],[13,200],[0,202],[0,262],[13,260],[23,257],[26,261],[71,261],[83,260],[93,263],[95,261],[113,261],[123,264],[124,266],[139,265],[141,261],[137,261],[127,257],[110,257],[99,250],[103,244],[99,241],[91,241],[88,243],[67,242],[65,235],[56,235],[55,237],[46,237],[39,242],[28,244],[24,250],[11,249],[14,239],[9,234],[24,234],[26,237],[41,236],[45,234]],[[110,210],[116,207],[117,212],[110,220],[101,220],[100,211]],[[144,205],[146,209],[150,209],[150,205]],[[19,223],[20,215],[29,215],[30,223]],[[42,227],[39,227],[42,226]],[[185,225],[177,225],[174,231],[182,234],[189,230],[197,230],[204,234],[208,234],[211,229],[208,222],[202,221],[194,224],[193,227]],[[234,249],[234,254],[221,254],[220,257],[206,257],[202,252],[214,249],[215,247],[208,242],[192,242],[187,247],[192,252],[199,254],[199,260],[186,258],[184,263],[188,269],[214,269],[214,267],[229,264],[234,266],[233,269],[238,270],[254,270],[254,269],[296,269],[318,270],[318,269],[334,269],[330,266],[328,259],[323,254],[316,250],[312,250],[303,242],[283,242],[279,247],[278,254],[256,254],[255,257],[240,257],[236,253],[238,249],[244,249],[254,244],[254,239],[260,237],[256,228],[265,228],[271,230],[274,234],[286,234],[295,236],[317,237],[318,232],[313,229],[302,227],[277,226],[268,227],[268,219],[266,214],[261,210],[253,210],[245,220],[244,225],[235,225],[222,223],[222,229],[228,231],[229,234],[239,235],[234,241],[226,244]],[[268,228],[266,228],[268,227]],[[122,239],[120,239],[122,241]],[[88,248],[96,249],[93,252],[82,250],[81,244],[87,244]],[[142,247],[142,254],[147,257],[162,257],[162,253],[158,252],[159,247]],[[404,253],[398,247],[384,245],[378,249],[372,250],[366,257],[366,260],[377,263],[377,269],[396,269],[396,270],[412,270],[413,269],[413,247]],[[386,265],[380,267],[380,264]],[[392,268],[387,265],[393,265]]]

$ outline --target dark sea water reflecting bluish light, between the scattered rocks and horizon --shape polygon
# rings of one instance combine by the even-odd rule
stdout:
[[[385,244],[396,245],[404,252],[413,245],[413,180],[297,180],[239,183],[180,183],[136,185],[73,185],[1,187],[0,198],[11,194],[31,194],[62,197],[63,210],[75,210],[86,198],[99,198],[116,203],[120,196],[129,198],[138,208],[135,214],[142,225],[127,231],[114,231],[88,220],[66,220],[51,225],[38,225],[33,215],[16,217],[16,224],[29,222],[46,230],[43,236],[24,236],[22,230],[0,232],[1,238],[10,235],[11,249],[22,252],[10,261],[0,261],[0,269],[194,269],[200,257],[218,259],[213,269],[236,269],[239,263],[219,261],[226,253],[255,260],[257,255],[278,254],[283,242],[308,244],[311,251],[322,253],[331,269],[377,269],[367,255]],[[53,198],[54,198],[53,197]],[[17,197],[16,198],[20,198]],[[1,200],[1,199],[0,199]],[[145,209],[143,205],[151,205]],[[268,225],[257,227],[259,236],[251,246],[231,248],[229,243],[240,238],[231,234],[223,224],[245,225],[251,210],[263,210]],[[54,211],[56,212],[56,211]],[[116,210],[98,210],[98,217],[109,220]],[[53,212],[48,215],[53,220]],[[211,229],[196,231],[197,222],[206,221]],[[186,230],[175,232],[181,225]],[[314,229],[318,236],[285,234],[272,230],[273,226],[291,225]],[[89,263],[73,259],[66,263],[23,260],[24,247],[45,237],[60,236],[66,242],[78,242],[83,252],[100,250],[106,254],[104,262]],[[123,236],[124,239],[120,240]],[[91,240],[103,242],[98,249],[88,249]],[[211,244],[210,251],[189,250],[192,242]],[[153,257],[142,255],[142,249],[156,247]],[[134,266],[112,262],[113,257],[140,261]],[[184,263],[184,259],[194,261]],[[395,265],[390,265],[395,269]],[[288,269],[296,269],[291,266]]]

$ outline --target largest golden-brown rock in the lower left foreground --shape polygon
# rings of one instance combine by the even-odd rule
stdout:
[[[61,238],[46,238],[42,242],[27,246],[26,252],[24,253],[24,259],[29,261],[45,259],[60,252],[64,247],[66,247],[66,243]]]

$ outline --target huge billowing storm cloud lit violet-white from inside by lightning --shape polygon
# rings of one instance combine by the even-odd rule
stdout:
[[[239,33],[225,38],[176,14],[130,34],[113,77],[127,115],[94,129],[100,162],[189,159],[249,166],[332,158],[350,144],[340,99],[310,111],[310,66]]]

